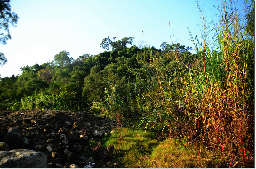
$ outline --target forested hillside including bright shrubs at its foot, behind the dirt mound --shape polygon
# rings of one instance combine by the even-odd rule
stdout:
[[[151,56],[156,55],[159,65],[169,71],[174,71],[177,62],[170,53],[172,46],[166,42],[159,50],[154,47],[139,49],[135,45],[127,48],[132,38],[125,37],[108,44],[113,45],[113,51],[98,55],[85,53],[76,60],[63,50],[54,56],[52,62],[25,66],[21,68],[21,75],[1,78],[1,109],[84,111],[92,102],[103,99],[105,89],[109,90],[113,85],[125,104],[133,107],[130,111],[136,112],[137,105],[133,101],[138,102],[136,97],[148,92],[143,72],[153,71]],[[180,59],[186,64],[198,58],[198,55],[192,56],[189,49],[185,45],[175,44],[175,50],[181,53]]]

